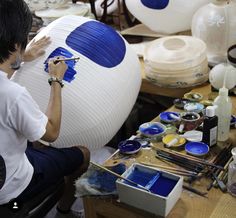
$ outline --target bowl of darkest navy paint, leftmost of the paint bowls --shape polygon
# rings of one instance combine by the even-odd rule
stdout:
[[[125,140],[118,144],[118,149],[123,154],[135,154],[141,147],[141,143],[137,140]]]

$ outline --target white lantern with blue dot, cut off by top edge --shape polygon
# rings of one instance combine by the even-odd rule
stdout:
[[[129,11],[151,30],[172,34],[189,30],[193,14],[210,0],[126,0]]]

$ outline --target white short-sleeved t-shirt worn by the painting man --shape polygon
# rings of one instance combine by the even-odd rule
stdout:
[[[40,139],[47,121],[28,91],[0,71],[0,154],[6,165],[0,205],[17,197],[30,183],[33,167],[25,155],[27,140]]]

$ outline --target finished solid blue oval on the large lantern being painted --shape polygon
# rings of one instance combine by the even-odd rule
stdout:
[[[88,21],[77,27],[67,37],[66,44],[107,68],[120,64],[126,53],[122,37],[111,27],[96,21]]]

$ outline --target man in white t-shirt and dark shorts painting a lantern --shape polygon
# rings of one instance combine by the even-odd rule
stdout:
[[[24,87],[10,80],[20,60],[42,55],[42,47],[50,41],[44,37],[25,51],[31,23],[23,0],[0,1],[0,155],[6,167],[0,205],[12,199],[24,203],[64,177],[65,191],[57,208],[68,213],[75,200],[74,181],[87,170],[90,155],[83,146],[35,148],[31,143],[39,139],[53,142],[59,135],[62,78],[67,69],[63,61],[49,62],[51,92],[45,114]]]

